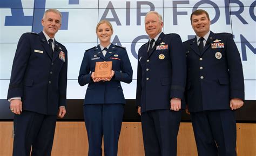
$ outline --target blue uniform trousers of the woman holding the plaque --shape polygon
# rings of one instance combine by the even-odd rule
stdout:
[[[84,120],[89,141],[88,156],[117,156],[118,139],[122,127],[124,104],[84,105]]]

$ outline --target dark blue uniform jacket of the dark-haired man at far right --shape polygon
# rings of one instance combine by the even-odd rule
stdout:
[[[197,38],[184,42],[187,59],[186,101],[190,112],[230,110],[230,100],[244,100],[244,76],[231,33],[210,32],[203,52]]]

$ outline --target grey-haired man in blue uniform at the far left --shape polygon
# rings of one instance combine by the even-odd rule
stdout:
[[[46,10],[43,31],[19,39],[8,90],[15,156],[30,155],[31,146],[31,155],[51,155],[57,114],[66,113],[67,50],[54,38],[61,22],[58,10]]]

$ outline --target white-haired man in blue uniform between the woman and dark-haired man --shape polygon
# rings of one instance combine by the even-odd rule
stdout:
[[[185,108],[186,57],[180,36],[161,32],[156,11],[145,16],[149,42],[138,53],[136,104],[142,119],[146,156],[177,153],[181,108]]]

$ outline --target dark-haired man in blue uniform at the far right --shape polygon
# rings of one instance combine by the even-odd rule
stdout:
[[[237,46],[232,34],[210,31],[205,10],[194,11],[191,24],[196,37],[184,42],[186,100],[198,155],[236,155],[234,110],[244,103],[244,77]]]

